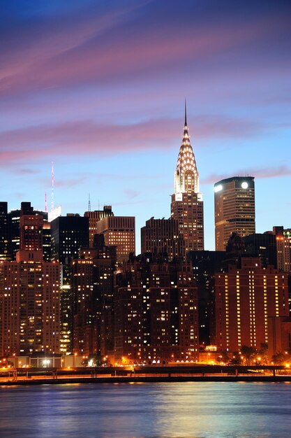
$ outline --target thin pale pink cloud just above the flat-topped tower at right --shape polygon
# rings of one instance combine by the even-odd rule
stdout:
[[[232,171],[230,174],[211,174],[207,178],[202,179],[201,183],[204,185],[210,185],[217,183],[225,178],[230,178],[230,176],[254,176],[255,178],[280,178],[281,176],[291,176],[291,167],[279,166],[279,167],[265,167],[248,169],[248,171]]]

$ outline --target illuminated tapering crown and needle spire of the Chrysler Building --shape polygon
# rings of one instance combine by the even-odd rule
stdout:
[[[199,174],[188,133],[186,102],[184,134],[174,173],[174,192],[176,195],[178,193],[199,193]]]

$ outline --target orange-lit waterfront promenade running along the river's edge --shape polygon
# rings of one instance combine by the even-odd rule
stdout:
[[[0,369],[0,385],[42,383],[133,383],[183,381],[288,381],[291,372],[283,366],[130,366],[92,368],[15,368]]]

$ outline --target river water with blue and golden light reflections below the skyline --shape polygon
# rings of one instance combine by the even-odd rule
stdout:
[[[288,383],[0,388],[0,437],[290,438]]]

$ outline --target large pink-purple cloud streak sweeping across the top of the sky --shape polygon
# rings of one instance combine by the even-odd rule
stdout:
[[[181,29],[170,33],[162,26],[140,29],[133,34],[126,29],[122,38],[116,32],[124,15],[115,11],[100,18],[80,20],[67,27],[47,29],[39,41],[32,38],[3,57],[0,69],[0,91],[3,94],[68,87],[80,83],[100,83],[124,79],[136,80],[159,71],[181,69],[209,55],[255,41],[269,32],[269,18],[255,23],[211,29]],[[279,20],[273,17],[272,28]],[[52,31],[53,30],[53,31]]]

